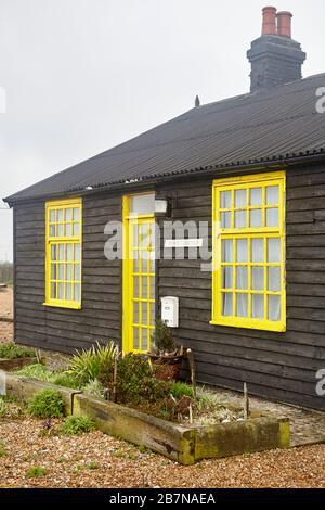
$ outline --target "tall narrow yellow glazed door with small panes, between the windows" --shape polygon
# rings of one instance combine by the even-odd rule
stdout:
[[[153,193],[123,197],[123,352],[150,349],[155,328]]]

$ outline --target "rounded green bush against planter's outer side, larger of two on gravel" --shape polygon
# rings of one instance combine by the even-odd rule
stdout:
[[[36,418],[61,418],[64,401],[60,392],[42,390],[28,403],[28,412]]]

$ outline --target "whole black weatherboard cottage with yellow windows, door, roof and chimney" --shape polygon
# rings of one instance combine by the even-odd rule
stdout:
[[[73,353],[112,339],[146,350],[160,298],[178,297],[174,336],[194,350],[202,383],[247,382],[256,395],[324,409],[325,74],[301,78],[290,22],[263,10],[250,93],[197,101],[6,199],[16,342]],[[172,221],[208,224],[212,272],[188,250],[154,263],[158,199]],[[112,221],[125,225],[125,260],[104,254]]]

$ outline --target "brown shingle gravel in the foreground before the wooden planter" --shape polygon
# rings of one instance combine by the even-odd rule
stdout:
[[[194,467],[140,452],[101,432],[40,437],[42,422],[0,419],[0,487],[318,487],[325,488],[325,445],[275,450]],[[28,479],[34,467],[46,475]]]

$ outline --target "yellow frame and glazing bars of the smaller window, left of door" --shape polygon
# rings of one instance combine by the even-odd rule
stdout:
[[[63,211],[63,219],[57,218],[57,211]],[[66,209],[73,211],[73,216],[70,219],[67,219]],[[78,219],[74,217],[74,211],[78,209]],[[54,221],[51,219],[51,214],[55,212]],[[60,234],[60,228],[63,229],[63,233]],[[62,226],[62,227],[61,227]],[[72,228],[72,234],[66,234],[67,226]],[[76,227],[75,227],[76,226]],[[77,233],[75,234],[75,228]],[[54,229],[55,234],[52,234],[52,229]],[[63,260],[53,260],[52,259],[52,247],[56,246],[55,250],[58,250],[58,246],[63,246],[64,259]],[[67,246],[72,246],[72,259],[67,258]],[[76,259],[76,245],[79,245],[80,256]],[[55,265],[56,270],[57,265],[62,264],[64,267],[64,278],[63,280],[56,275],[55,279],[52,279],[52,265]],[[67,265],[73,267],[72,278],[67,278]],[[76,267],[79,267],[79,280],[77,281]],[[51,283],[56,284],[56,295],[57,295],[57,285],[63,283],[65,298],[53,298],[51,296]],[[69,299],[66,298],[66,289],[67,285],[72,285],[72,296],[75,294],[75,285],[79,285],[79,298]],[[70,308],[70,309],[81,309],[82,301],[82,199],[67,199],[60,201],[51,201],[46,203],[46,302],[44,306],[57,307],[57,308]]]

